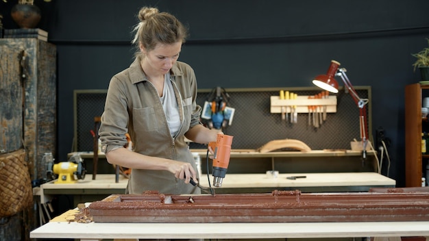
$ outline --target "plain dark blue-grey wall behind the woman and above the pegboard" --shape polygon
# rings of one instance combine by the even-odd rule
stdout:
[[[6,14],[12,3],[2,4],[3,27],[16,27]],[[420,80],[410,54],[427,46],[427,0],[39,0],[36,5],[43,14],[39,27],[58,47],[60,160],[73,142],[73,90],[106,89],[110,77],[132,62],[130,31],[140,7],[151,5],[189,27],[180,60],[193,66],[199,88],[312,86],[312,77],[325,73],[330,60],[341,62],[354,86],[371,86],[372,126],[391,139],[389,176],[404,186],[404,86]]]

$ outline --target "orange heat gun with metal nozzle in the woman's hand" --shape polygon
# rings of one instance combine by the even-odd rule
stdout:
[[[213,186],[222,186],[226,170],[230,164],[231,144],[233,136],[217,134],[216,142],[209,142],[208,146],[214,151],[213,154]]]

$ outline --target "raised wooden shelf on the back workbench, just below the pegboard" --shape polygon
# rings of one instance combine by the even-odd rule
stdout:
[[[211,166],[211,159],[207,160],[207,149],[191,149],[201,159],[201,171],[206,173],[207,164]],[[93,152],[79,153],[86,162],[88,173],[91,173]],[[69,153],[69,157],[75,153]],[[367,151],[367,160],[362,160],[360,151],[352,150],[313,150],[302,151],[274,151],[260,153],[255,149],[232,149],[228,174],[265,173],[267,170],[278,170],[281,173],[358,173],[378,172],[376,152]],[[104,153],[99,159],[105,159]],[[110,173],[107,162],[99,162],[97,173]]]

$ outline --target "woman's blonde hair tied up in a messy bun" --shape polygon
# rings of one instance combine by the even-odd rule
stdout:
[[[171,45],[186,41],[185,27],[168,12],[159,12],[158,8],[143,7],[138,12],[138,19],[140,22],[133,29],[136,34],[132,40],[137,49],[140,43],[150,51],[158,43]]]

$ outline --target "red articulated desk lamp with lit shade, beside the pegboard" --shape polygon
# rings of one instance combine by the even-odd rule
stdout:
[[[345,92],[350,92],[354,102],[359,107],[359,126],[360,126],[360,138],[363,142],[363,159],[367,158],[367,144],[368,144],[368,132],[367,132],[367,108],[368,99],[362,99],[358,96],[356,90],[354,90],[352,83],[345,74],[347,71],[345,68],[339,68],[341,64],[335,60],[331,60],[331,64],[328,68],[326,75],[318,75],[312,80],[312,84],[315,84],[323,90],[329,92],[338,93],[338,82],[334,79],[334,76],[339,76],[344,82]]]

